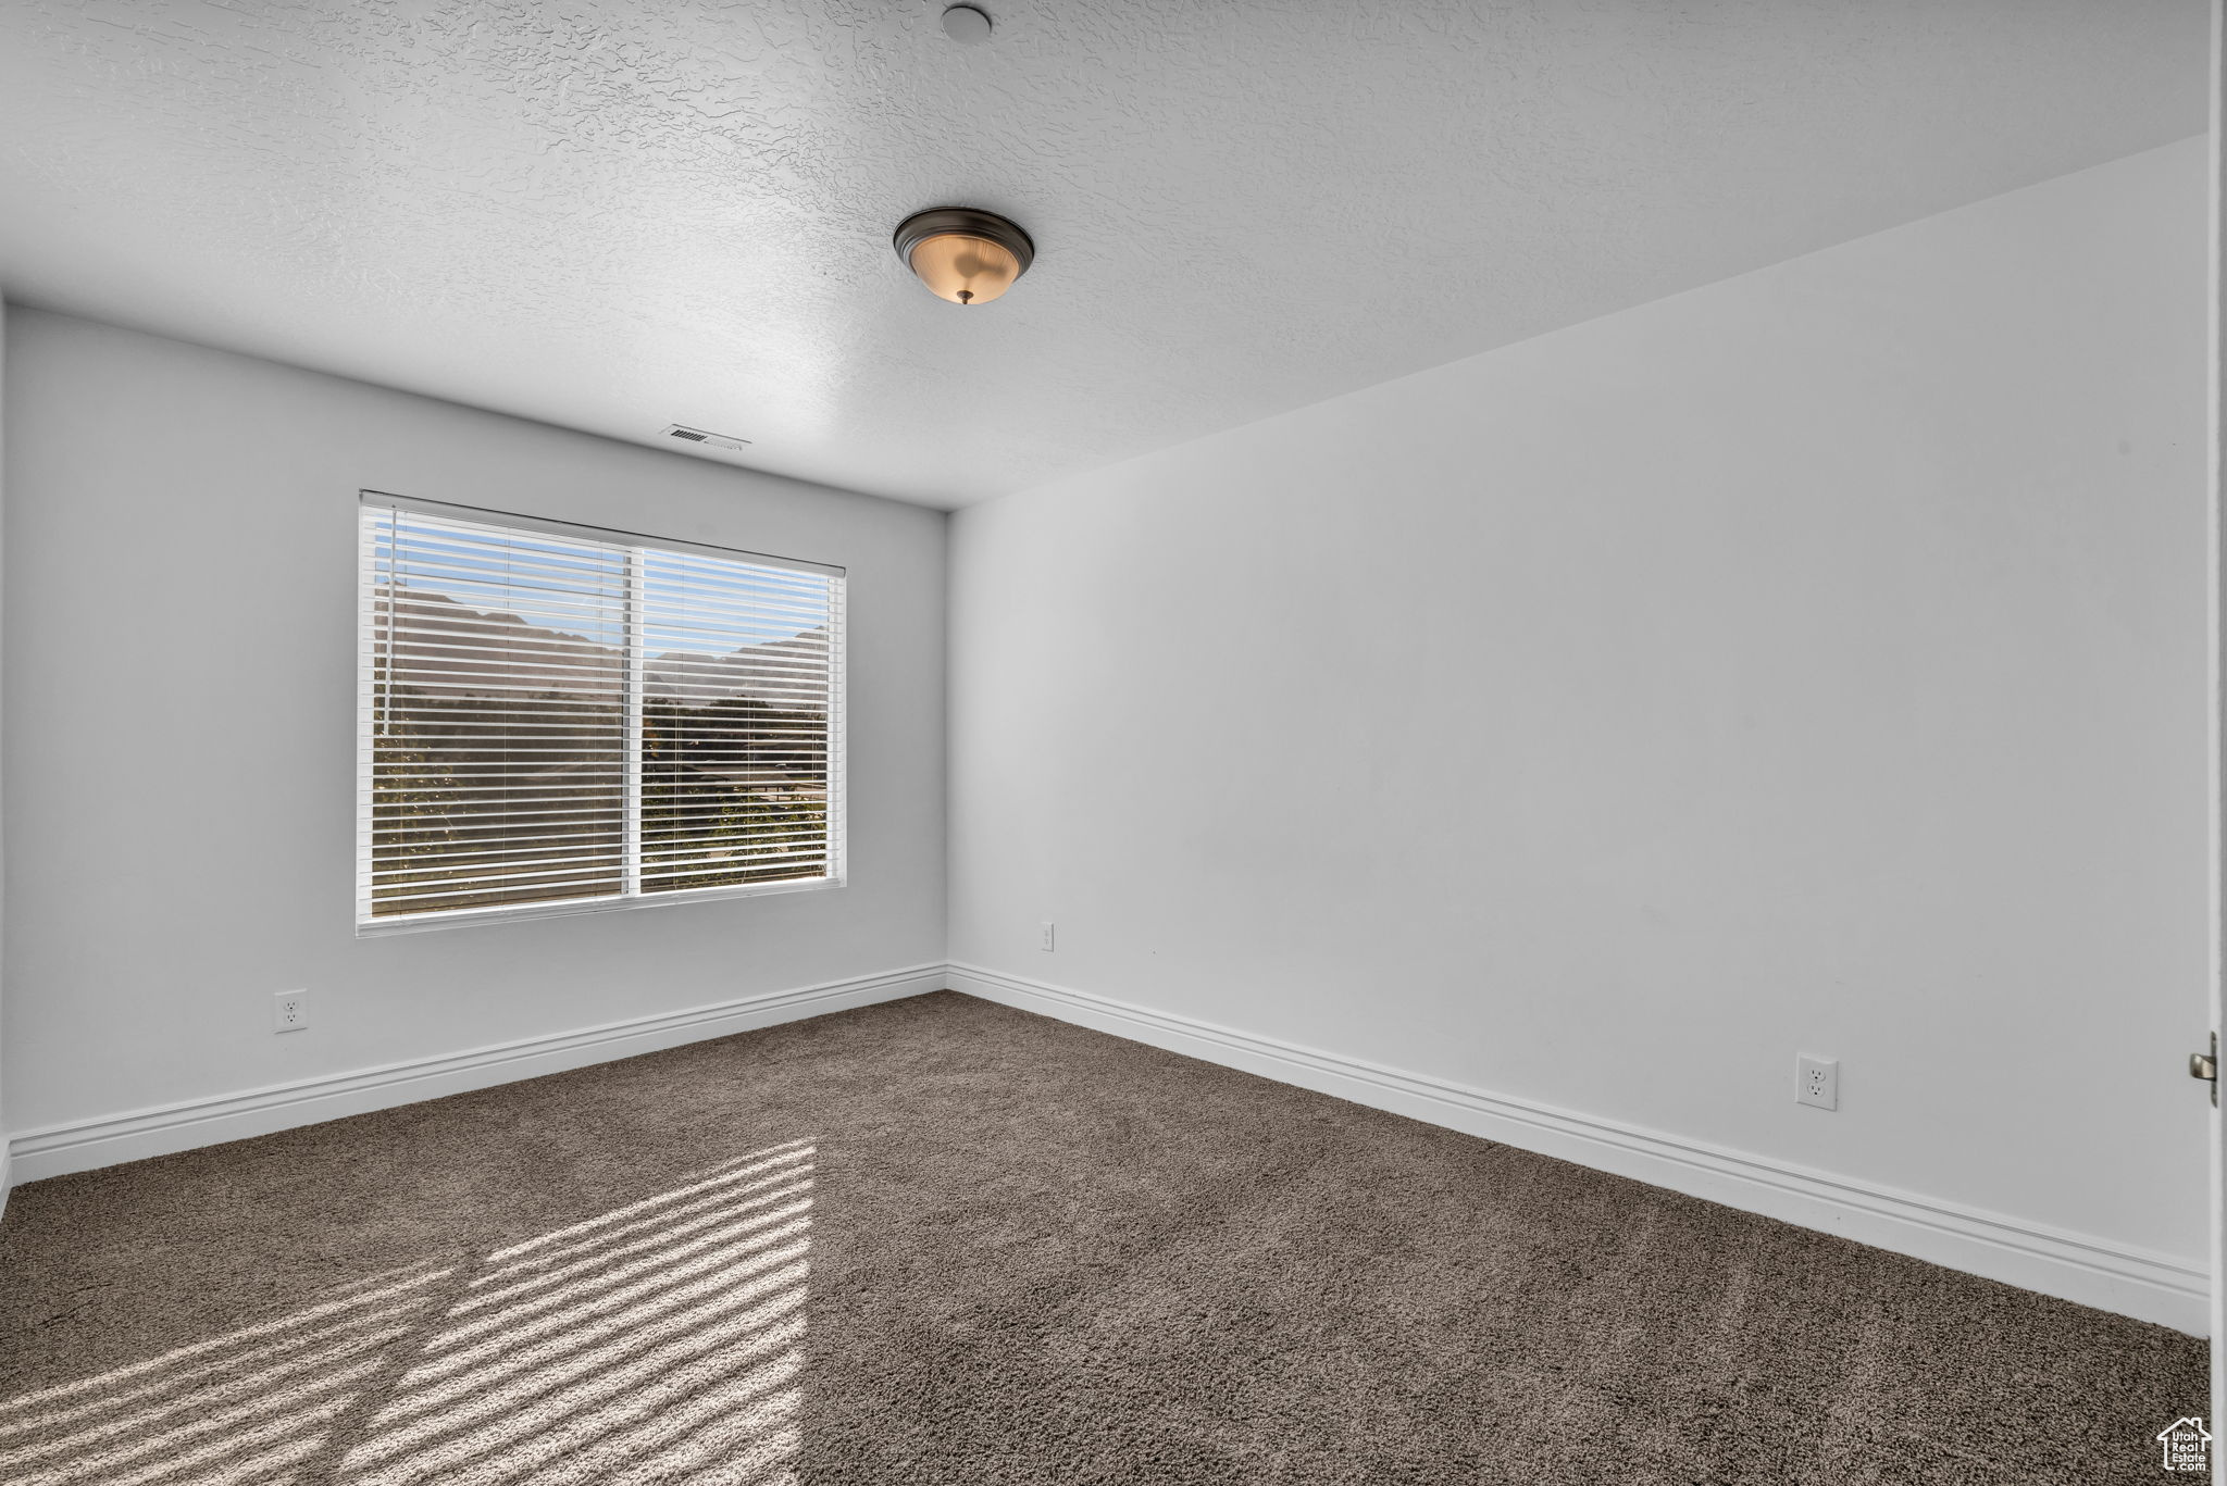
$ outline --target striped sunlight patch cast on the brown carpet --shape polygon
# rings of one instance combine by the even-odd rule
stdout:
[[[0,1401],[20,1486],[791,1482],[813,1154]]]

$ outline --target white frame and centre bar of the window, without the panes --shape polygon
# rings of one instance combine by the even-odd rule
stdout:
[[[470,907],[470,909],[428,909],[419,913],[390,913],[372,916],[372,784],[374,784],[374,644],[372,644],[372,615],[376,604],[376,577],[372,561],[372,544],[365,541],[365,512],[367,510],[399,510],[425,517],[448,517],[454,521],[472,521],[479,526],[499,526],[521,532],[546,532],[552,537],[570,537],[577,541],[601,541],[606,546],[621,546],[632,550],[659,550],[659,553],[690,553],[699,557],[719,557],[730,561],[748,561],[762,568],[784,568],[788,573],[815,573],[831,579],[828,586],[828,871],[820,878],[793,878],[782,882],[739,882],[722,887],[677,887],[657,893],[644,893],[639,887],[641,860],[630,860],[624,864],[626,889],[619,893],[608,893],[601,898],[561,898],[550,902],[506,902],[494,907]],[[804,561],[797,557],[775,557],[771,553],[750,553],[744,548],[715,546],[708,541],[686,541],[679,537],[653,537],[648,532],[630,532],[615,526],[588,526],[583,521],[557,521],[552,517],[532,517],[519,510],[497,510],[490,506],[461,506],[457,501],[430,501],[421,497],[392,495],[387,490],[359,490],[356,492],[356,938],[383,938],[390,933],[430,933],[434,929],[461,929],[468,925],[508,925],[526,922],[537,918],[575,918],[581,913],[617,913],[632,909],[661,909],[679,907],[686,902],[715,902],[726,898],[771,898],[775,893],[813,893],[824,889],[837,889],[848,884],[848,782],[851,782],[851,749],[848,749],[848,570],[835,564]],[[630,561],[632,566],[632,561]],[[628,604],[628,633],[639,633],[639,615]],[[626,662],[626,711],[630,720],[630,760],[628,760],[628,793],[639,798],[641,791],[641,749],[639,749],[639,715],[641,715],[641,664],[644,655],[639,644],[628,646]],[[635,840],[635,851],[641,851],[641,842]]]

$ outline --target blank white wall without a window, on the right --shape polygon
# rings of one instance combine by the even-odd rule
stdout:
[[[2200,1265],[2203,356],[2187,140],[971,508],[951,956]]]

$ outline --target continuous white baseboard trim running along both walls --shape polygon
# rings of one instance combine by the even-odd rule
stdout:
[[[45,1176],[243,1141],[944,987],[1966,1274],[2156,1321],[2196,1337],[2209,1332],[2209,1274],[2171,1254],[1490,1094],[978,965],[913,965],[880,976],[746,996],[441,1058],[27,1130],[0,1145],[0,1210],[11,1185]]]

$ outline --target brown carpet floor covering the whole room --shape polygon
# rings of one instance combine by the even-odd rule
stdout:
[[[2096,1486],[2205,1412],[2203,1341],[953,994],[31,1183],[0,1279],[18,1486]]]

